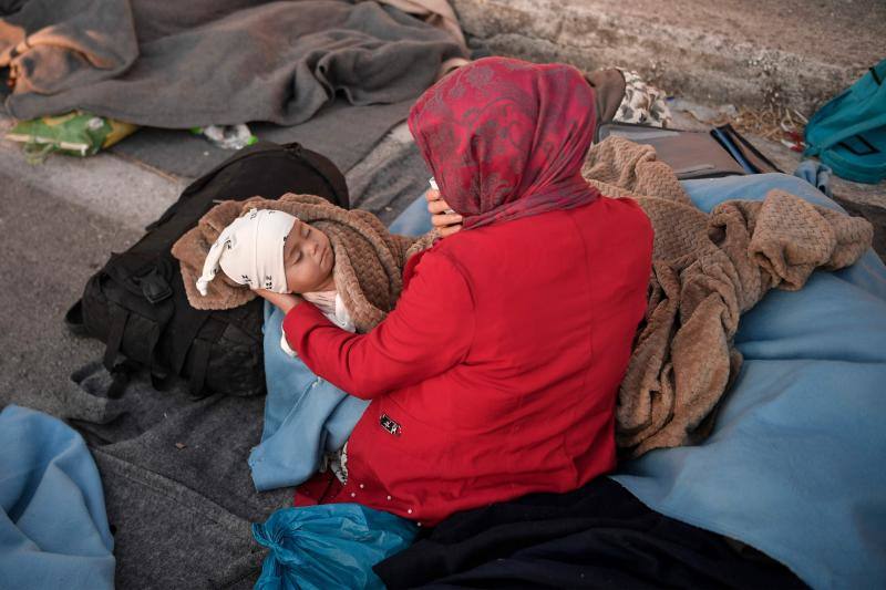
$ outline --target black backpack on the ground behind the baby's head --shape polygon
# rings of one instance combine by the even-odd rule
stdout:
[[[230,310],[192,308],[169,250],[222,200],[286,193],[349,207],[344,177],[329,159],[299,144],[258,142],[195,180],[142,239],[112,253],[90,278],[65,322],[73,332],[107,344],[104,365],[115,377],[112,394],[145,366],[158,390],[181,376],[194,396],[265,392],[261,300]]]

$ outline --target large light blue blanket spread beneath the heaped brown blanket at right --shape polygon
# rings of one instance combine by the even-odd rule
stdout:
[[[782,188],[766,174],[683,183],[710,210]],[[698,446],[659,449],[615,477],[650,508],[749,544],[814,588],[886,587],[886,268],[868,251],[796,292],[771,291],[735,339],[744,365]]]

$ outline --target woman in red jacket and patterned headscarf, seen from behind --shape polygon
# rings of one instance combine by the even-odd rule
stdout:
[[[272,300],[305,363],[372,401],[347,483],[302,491],[434,525],[615,466],[652,230],[581,178],[594,94],[570,66],[480,60],[425,92],[409,125],[463,230],[409,261],[396,309],[368,334]]]

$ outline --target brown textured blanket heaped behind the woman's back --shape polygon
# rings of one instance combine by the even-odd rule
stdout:
[[[772,288],[852,265],[873,238],[865,219],[782,190],[704,214],[651,146],[621,137],[594,146],[583,174],[605,195],[636,199],[656,234],[649,304],[618,395],[617,439],[631,457],[707,436],[741,366],[741,314]]]

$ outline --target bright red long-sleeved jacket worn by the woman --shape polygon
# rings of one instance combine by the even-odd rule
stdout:
[[[435,525],[610,470],[651,249],[633,201],[599,198],[439,241],[410,260],[396,309],[368,334],[297,306],[290,345],[372,400],[348,443],[348,484],[301,491]]]

